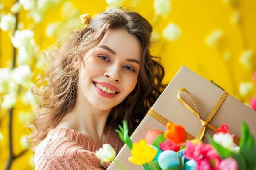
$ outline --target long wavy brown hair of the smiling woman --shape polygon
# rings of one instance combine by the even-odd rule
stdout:
[[[81,31],[72,31],[59,42],[58,47],[47,51],[51,61],[46,73],[33,88],[39,98],[36,117],[28,126],[31,129],[31,150],[45,139],[49,130],[55,128],[76,102],[76,85],[79,68],[74,61],[83,62],[84,51],[96,46],[108,29],[124,29],[135,35],[142,45],[141,66],[135,89],[120,104],[112,108],[107,124],[121,124],[127,120],[129,132],[133,132],[144,115],[165,88],[162,84],[164,69],[150,55],[150,23],[130,9],[117,8],[104,11],[88,22]]]

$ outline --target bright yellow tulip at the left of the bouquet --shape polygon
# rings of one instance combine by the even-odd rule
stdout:
[[[128,161],[136,165],[144,165],[151,162],[156,154],[157,150],[147,145],[144,139],[141,139],[138,143],[134,142],[132,144],[132,156],[128,157]]]

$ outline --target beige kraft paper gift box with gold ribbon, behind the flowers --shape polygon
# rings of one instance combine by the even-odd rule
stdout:
[[[198,110],[198,117],[195,115],[196,113],[192,113],[196,112],[193,101]],[[186,104],[194,111],[184,106]],[[207,119],[209,115],[213,116],[210,121]],[[193,139],[203,129],[199,117],[204,120],[202,122],[209,121],[205,133],[202,134],[204,135],[202,141],[205,143],[207,143],[205,134],[213,135],[215,133],[209,128],[212,126],[213,129],[214,127],[219,128],[221,124],[228,124],[229,132],[240,138],[242,120],[248,124],[254,139],[256,139],[256,111],[185,66],[182,66],[173,77],[130,138],[133,142],[138,142],[140,139],[144,139],[149,130],[165,131],[165,124],[167,121],[171,121],[184,126],[188,139]],[[129,156],[130,150],[124,145],[115,160],[127,170],[142,170],[141,166],[127,160]],[[108,167],[108,170],[120,169],[115,162]]]

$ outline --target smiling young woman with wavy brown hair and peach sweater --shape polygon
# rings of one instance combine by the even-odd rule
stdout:
[[[95,151],[109,143],[118,152],[118,124],[127,120],[131,134],[164,88],[146,19],[122,8],[82,19],[81,31],[47,53],[51,67],[34,89],[36,170],[106,169],[110,163],[101,165]]]

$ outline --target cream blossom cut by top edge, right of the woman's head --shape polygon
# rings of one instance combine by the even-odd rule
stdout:
[[[170,0],[154,0],[153,8],[156,15],[166,17],[171,11],[171,2]]]

